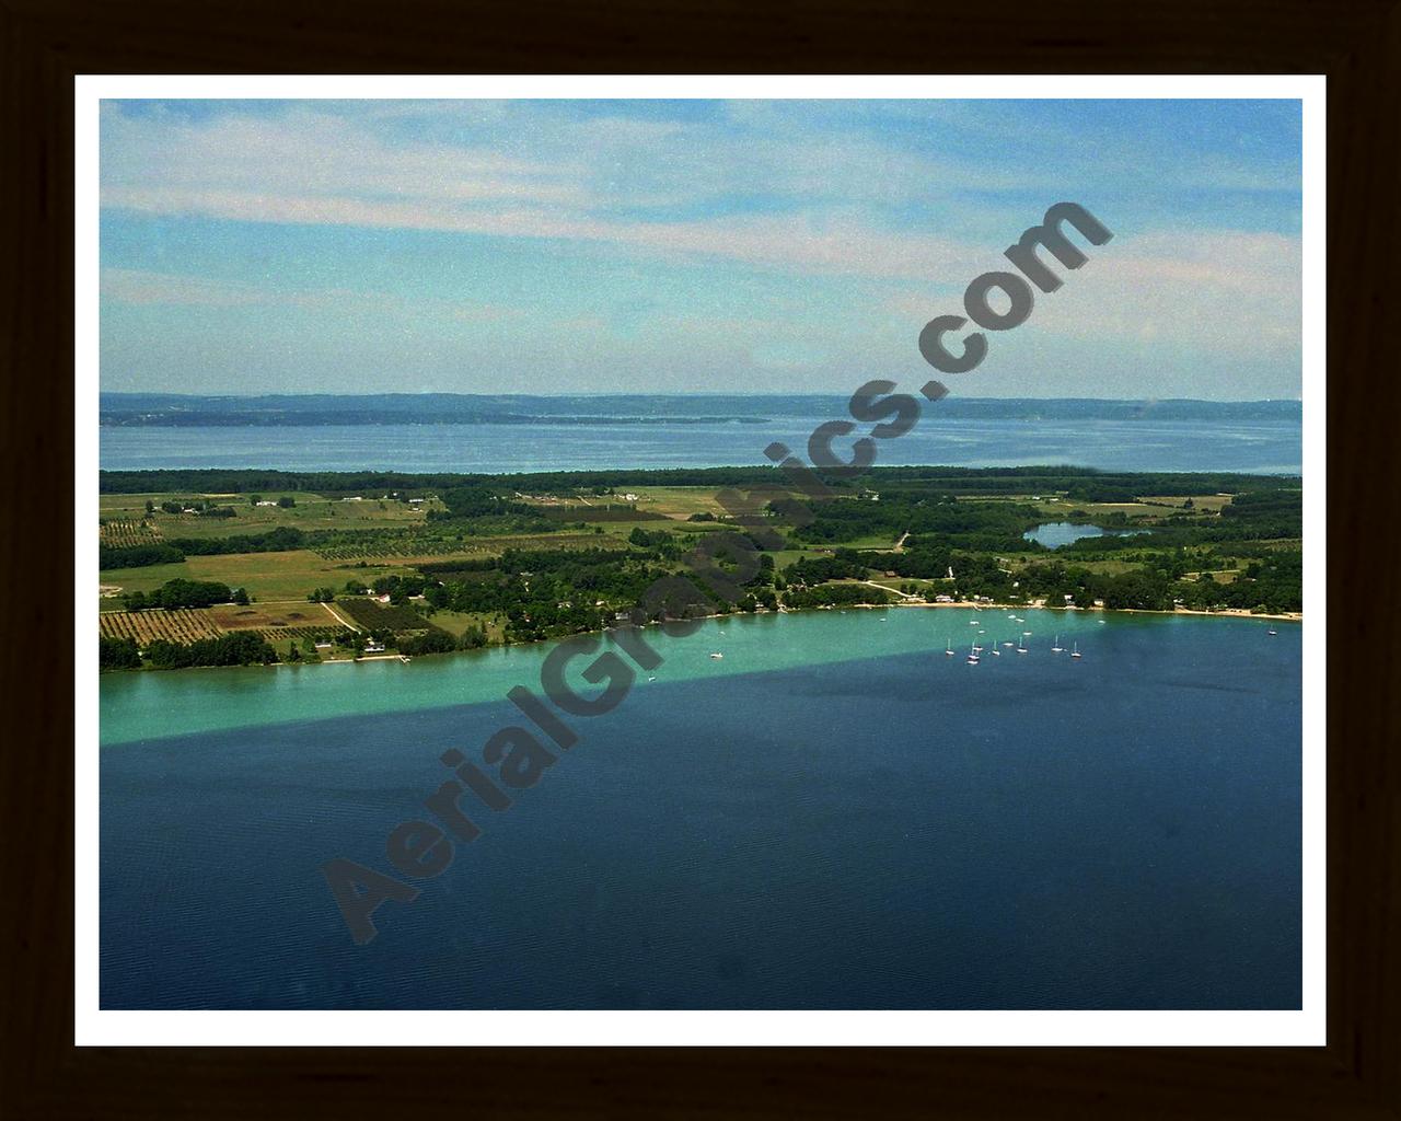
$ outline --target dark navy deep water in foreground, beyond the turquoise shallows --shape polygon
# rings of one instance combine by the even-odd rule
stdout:
[[[1302,628],[1082,618],[1080,661],[969,667],[927,617],[573,717],[366,947],[318,866],[388,870],[513,708],[104,747],[102,1006],[1299,1007]]]

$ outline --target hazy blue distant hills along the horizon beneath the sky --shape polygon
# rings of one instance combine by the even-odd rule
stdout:
[[[807,395],[483,395],[275,394],[192,397],[101,394],[106,426],[321,425],[702,425],[764,423],[846,412],[845,397]],[[947,419],[981,420],[1299,420],[1299,401],[1110,401],[1097,398],[947,397]]]

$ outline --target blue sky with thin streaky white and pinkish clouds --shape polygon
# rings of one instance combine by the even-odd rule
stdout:
[[[105,101],[102,388],[1297,398],[1300,151],[1297,101]],[[934,371],[1056,202],[1114,238]]]

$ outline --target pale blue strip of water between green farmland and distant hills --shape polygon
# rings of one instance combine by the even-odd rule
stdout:
[[[806,458],[807,439],[820,423],[846,419],[841,402],[834,408],[766,423],[104,427],[101,467],[410,472],[743,467],[766,464],[764,448],[773,440]],[[979,419],[941,416],[932,405],[912,432],[880,443],[877,464],[1072,464],[1107,471],[1209,465],[1297,475],[1302,447],[1297,419]]]

